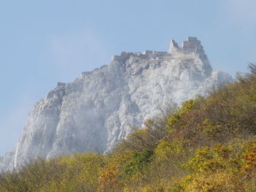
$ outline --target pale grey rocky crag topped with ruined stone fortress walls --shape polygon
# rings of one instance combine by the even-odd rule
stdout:
[[[110,150],[116,142],[174,101],[204,94],[232,81],[214,71],[195,37],[168,52],[121,53],[110,65],[83,72],[74,82],[59,82],[38,101],[16,147],[0,161],[8,170],[36,157]]]

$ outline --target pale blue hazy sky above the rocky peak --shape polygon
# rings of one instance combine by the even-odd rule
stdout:
[[[188,36],[233,77],[256,62],[255,0],[0,0],[0,155],[57,82]]]

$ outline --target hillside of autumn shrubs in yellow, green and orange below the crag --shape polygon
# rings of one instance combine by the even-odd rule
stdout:
[[[112,153],[31,162],[1,192],[256,191],[256,66],[150,119]]]

